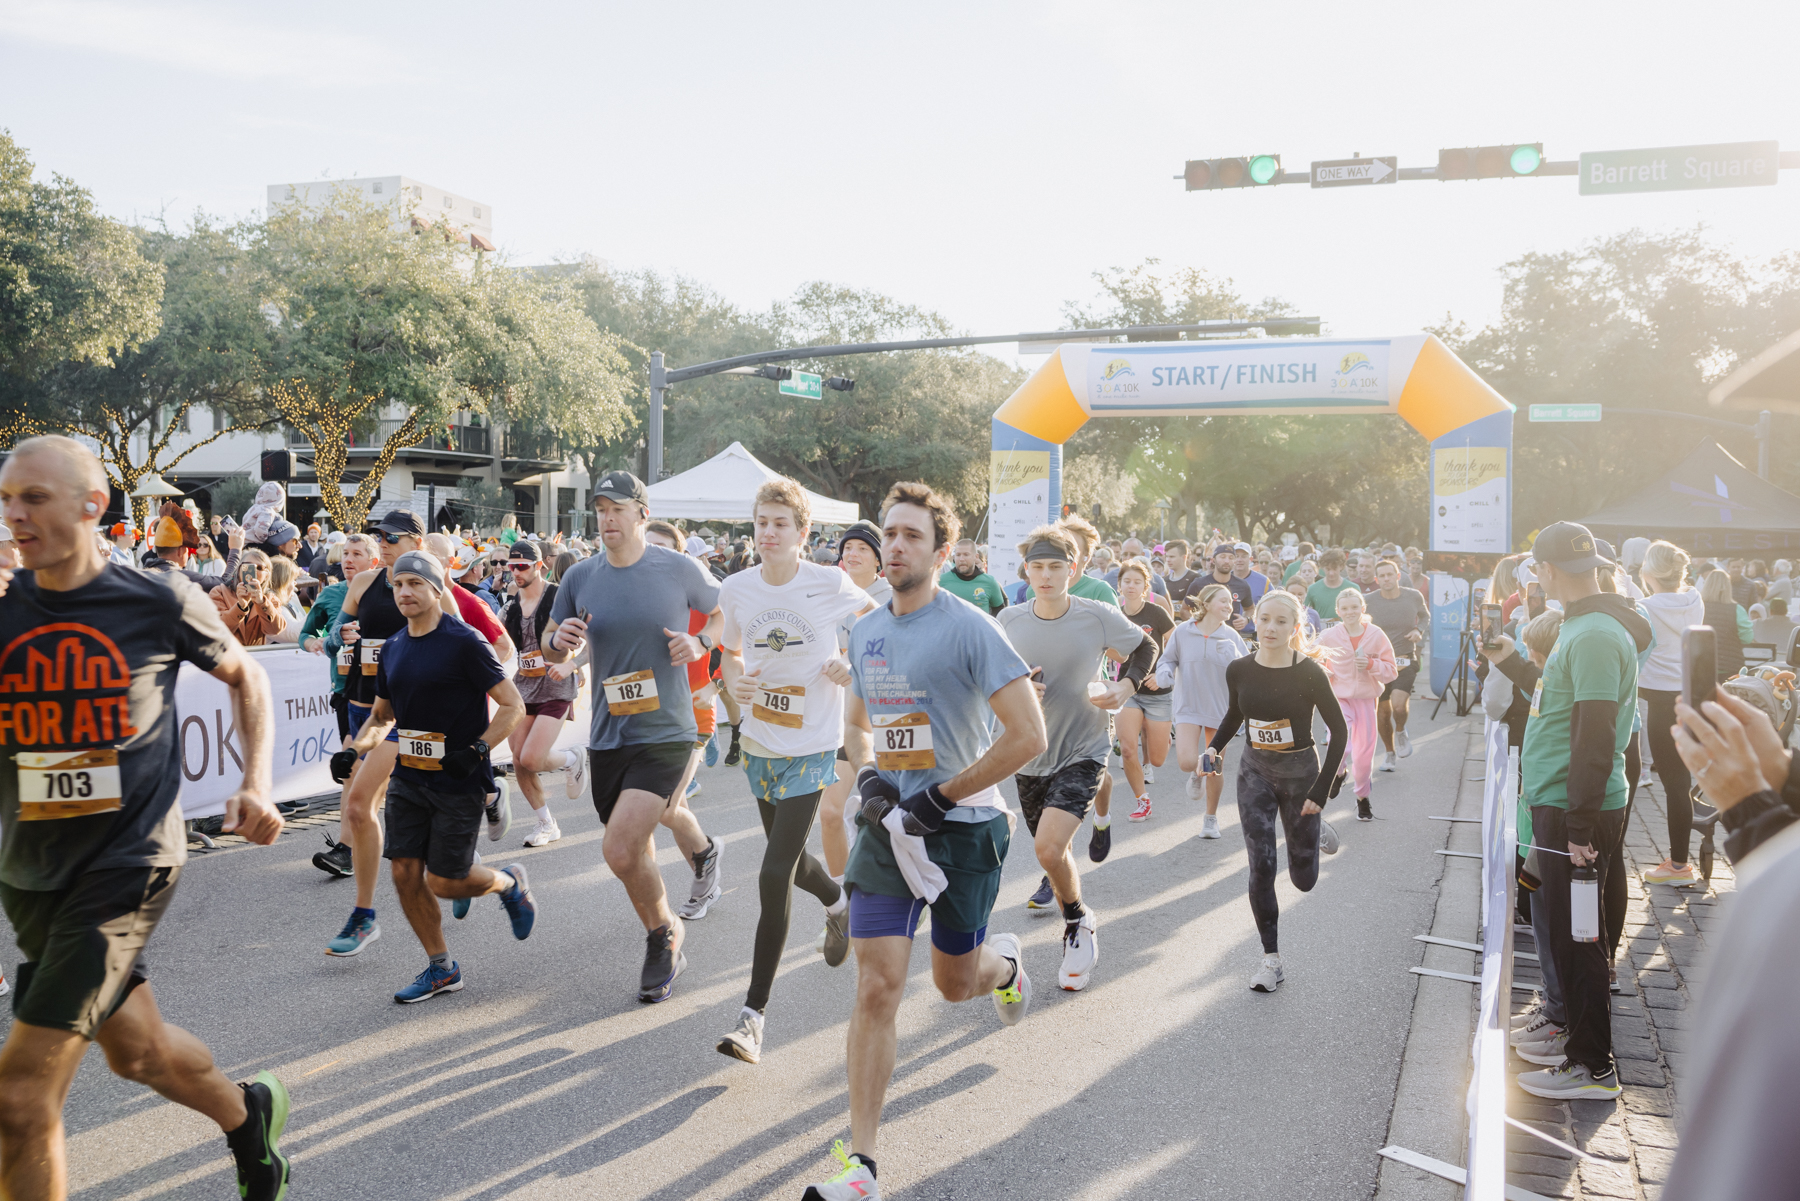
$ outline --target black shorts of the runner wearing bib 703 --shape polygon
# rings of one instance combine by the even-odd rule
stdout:
[[[148,980],[144,944],[180,875],[180,868],[103,868],[54,891],[0,884],[25,956],[13,981],[13,1017],[92,1039]]]

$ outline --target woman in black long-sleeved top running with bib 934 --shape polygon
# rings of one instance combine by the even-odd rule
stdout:
[[[1332,551],[1327,551],[1332,555]],[[1354,587],[1354,585],[1352,585]],[[1249,978],[1256,992],[1282,985],[1276,945],[1280,909],[1274,902],[1274,826],[1287,837],[1287,879],[1310,893],[1319,879],[1319,852],[1337,850],[1337,832],[1319,817],[1327,790],[1337,778],[1346,740],[1343,709],[1330,679],[1318,664],[1319,646],[1300,628],[1300,601],[1269,592],[1256,607],[1256,654],[1226,668],[1229,709],[1206,747],[1201,771],[1219,774],[1220,754],[1244,726],[1238,762],[1238,825],[1249,852],[1249,909],[1262,935],[1262,967]],[[1312,715],[1330,731],[1325,765],[1312,744]]]

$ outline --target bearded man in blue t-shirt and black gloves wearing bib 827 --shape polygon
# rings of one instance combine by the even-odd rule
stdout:
[[[875,1138],[895,1070],[895,1014],[927,904],[943,999],[992,994],[1008,1026],[1031,1005],[1017,935],[988,938],[1012,839],[994,785],[1044,753],[1044,715],[999,625],[938,587],[958,533],[956,510],[925,484],[895,484],[882,504],[882,564],[895,596],[857,623],[846,702],[850,720],[875,735],[875,763],[857,776],[862,812],[846,873],[857,954],[846,1048],[851,1149],[837,1145],[844,1170],[810,1185],[803,1201],[880,1197]],[[990,709],[1001,727],[992,742]]]

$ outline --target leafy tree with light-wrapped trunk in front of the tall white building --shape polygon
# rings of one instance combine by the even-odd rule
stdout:
[[[396,229],[398,203],[338,189],[277,209],[254,245],[274,328],[268,400],[311,441],[344,529],[362,526],[394,456],[459,412],[574,439],[614,438],[626,414],[619,340],[565,281],[497,263],[443,225]],[[353,438],[380,454],[346,497]]]

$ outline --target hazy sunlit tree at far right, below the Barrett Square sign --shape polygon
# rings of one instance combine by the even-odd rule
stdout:
[[[1800,328],[1800,256],[1748,263],[1703,230],[1631,230],[1501,268],[1501,317],[1480,331],[1447,317],[1435,333],[1501,396],[1514,423],[1514,529],[1579,519],[1643,488],[1715,438],[1755,463],[1748,434],[1620,414],[1593,425],[1525,420],[1532,403],[1586,402],[1715,414],[1706,389]],[[1800,486],[1800,430],[1777,425],[1771,475]]]

